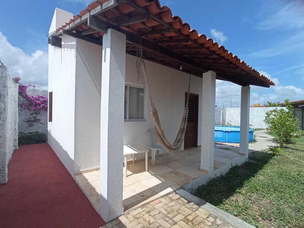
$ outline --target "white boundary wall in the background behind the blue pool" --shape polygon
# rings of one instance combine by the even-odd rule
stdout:
[[[267,126],[264,123],[266,112],[273,109],[282,109],[282,107],[250,108],[249,124],[251,124],[251,127],[266,129]],[[240,126],[240,107],[237,108],[216,107],[215,123],[216,125],[231,124],[232,126]]]

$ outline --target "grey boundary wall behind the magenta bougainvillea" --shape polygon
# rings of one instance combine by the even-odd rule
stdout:
[[[28,89],[27,94],[33,95],[33,96],[36,96],[36,95],[41,95],[41,96],[45,96],[45,97],[48,96],[47,90],[39,90],[39,89]],[[18,97],[18,109],[19,109],[18,110],[18,116],[19,116],[18,131],[19,132],[23,132],[26,129],[28,124],[24,121],[26,121],[26,119],[30,117],[30,111],[23,110],[20,108],[20,104],[21,104],[22,100],[23,100],[23,98],[21,96],[19,96]],[[47,112],[42,111],[39,118],[41,119],[41,122],[43,122],[44,124],[36,123],[35,126],[27,128],[25,133],[34,132],[34,131],[47,133]]]

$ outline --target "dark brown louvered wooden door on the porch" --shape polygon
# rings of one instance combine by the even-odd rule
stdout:
[[[185,105],[187,93],[185,94]],[[189,94],[188,102],[188,121],[184,139],[184,149],[197,147],[197,131],[199,120],[199,95]]]

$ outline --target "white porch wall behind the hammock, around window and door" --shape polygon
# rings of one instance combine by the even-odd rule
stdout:
[[[148,82],[157,107],[158,115],[168,140],[173,143],[178,133],[185,109],[185,92],[188,91],[189,75],[153,62],[145,61]],[[143,80],[137,83],[136,57],[126,57],[126,83],[145,85]],[[199,95],[198,144],[201,144],[202,126],[202,78],[192,76],[191,93]],[[147,130],[154,128],[150,104],[147,100],[146,122],[125,122],[124,143],[147,147]]]

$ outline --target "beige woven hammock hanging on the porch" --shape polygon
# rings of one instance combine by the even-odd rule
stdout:
[[[156,142],[157,142],[157,144],[161,145],[170,154],[176,155],[176,153],[182,151],[181,146],[182,146],[182,143],[184,141],[184,136],[185,136],[186,127],[187,127],[188,100],[189,100],[189,92],[190,92],[191,74],[190,74],[190,77],[189,77],[187,102],[186,102],[186,105],[185,105],[183,118],[181,119],[181,126],[179,127],[179,130],[178,130],[177,136],[174,140],[174,143],[171,144],[167,140],[167,138],[164,134],[164,130],[161,127],[161,122],[160,122],[158,114],[157,114],[157,109],[156,109],[156,106],[154,104],[154,100],[152,98],[152,93],[151,93],[150,86],[149,86],[149,83],[148,83],[148,80],[147,80],[146,65],[145,65],[145,62],[143,60],[141,45],[139,46],[139,51],[140,51],[140,57],[137,57],[136,69],[137,69],[137,72],[138,72],[138,77],[143,78],[142,75],[140,74],[140,64],[142,65],[143,75],[144,75],[144,78],[145,78],[145,81],[146,81],[147,91],[148,91],[148,96],[149,96],[149,101],[150,101],[151,115],[152,115],[152,119],[153,119],[154,125],[155,125]],[[139,80],[139,78],[137,78],[137,80]]]

